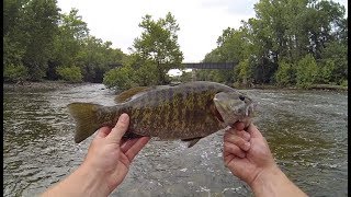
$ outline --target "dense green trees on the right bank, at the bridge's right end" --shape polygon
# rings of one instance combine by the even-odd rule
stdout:
[[[197,80],[229,84],[348,84],[348,19],[332,1],[260,0],[256,19],[228,27],[204,61],[238,62],[233,70],[201,70]]]

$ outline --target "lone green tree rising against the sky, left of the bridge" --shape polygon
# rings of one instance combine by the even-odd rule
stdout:
[[[144,30],[140,37],[134,40],[132,51],[143,61],[156,65],[158,83],[167,84],[167,72],[180,68],[183,55],[178,44],[177,32],[180,30],[174,16],[169,12],[165,19],[154,21],[145,15],[139,26]]]

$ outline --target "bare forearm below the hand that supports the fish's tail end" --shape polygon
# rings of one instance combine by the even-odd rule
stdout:
[[[83,166],[79,166],[72,174],[64,181],[46,190],[43,197],[53,196],[107,196],[109,188],[104,185],[99,174],[90,172]]]

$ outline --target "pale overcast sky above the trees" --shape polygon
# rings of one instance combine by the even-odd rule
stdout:
[[[346,8],[347,0],[335,0]],[[128,47],[140,36],[138,24],[145,14],[154,20],[171,12],[179,26],[178,42],[184,62],[199,62],[216,47],[224,28],[238,28],[240,21],[254,18],[253,4],[258,0],[58,0],[61,12],[71,8],[88,23],[90,34],[113,43],[129,54]]]

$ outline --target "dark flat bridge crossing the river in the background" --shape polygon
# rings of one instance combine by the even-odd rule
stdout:
[[[189,69],[227,69],[231,70],[236,62],[183,62],[183,68]],[[110,67],[122,67],[122,63],[111,63]]]

